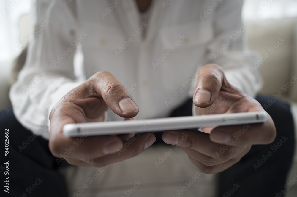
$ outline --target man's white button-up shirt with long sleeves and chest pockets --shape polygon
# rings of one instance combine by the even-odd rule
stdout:
[[[229,82],[251,96],[260,88],[250,69],[255,56],[244,47],[242,0],[155,0],[147,22],[134,0],[77,0],[74,12],[71,3],[37,1],[36,26],[49,22],[29,43],[10,90],[18,121],[44,138],[56,102],[100,70],[128,89],[137,119],[166,117],[192,97],[195,73],[207,63],[219,64]],[[74,64],[79,54],[81,65]],[[108,120],[122,118],[108,113]]]

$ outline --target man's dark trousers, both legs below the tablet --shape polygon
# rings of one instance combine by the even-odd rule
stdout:
[[[267,105],[270,97],[258,96],[257,101]],[[192,99],[173,111],[171,116],[192,115]],[[218,173],[217,196],[254,196],[274,197],[284,189],[287,173],[292,163],[294,150],[294,125],[290,107],[276,101],[266,110],[274,120],[277,137],[269,145],[252,146],[240,162]],[[9,195],[30,197],[67,196],[67,186],[63,176],[58,172],[59,167],[68,165],[67,162],[56,160],[50,154],[48,141],[35,137],[15,119],[12,112],[0,112],[1,141],[4,146],[4,131],[9,129]],[[162,133],[155,133],[156,143],[162,142]],[[285,139],[285,140],[284,140]],[[283,143],[282,143],[283,142]],[[26,146],[27,145],[27,146]],[[275,145],[275,146],[274,146]],[[268,152],[271,156],[267,158]],[[264,159],[265,161],[264,161]],[[267,158],[267,159],[266,159]],[[261,163],[259,163],[259,161]],[[264,162],[263,162],[264,161]],[[7,169],[4,162],[0,163],[1,177]],[[256,167],[255,167],[256,165]],[[259,167],[257,167],[259,166]],[[256,170],[257,169],[257,170]],[[4,181],[2,188],[4,188]],[[38,185],[37,185],[38,184]],[[235,185],[237,187],[235,187]],[[238,187],[240,186],[240,187]]]

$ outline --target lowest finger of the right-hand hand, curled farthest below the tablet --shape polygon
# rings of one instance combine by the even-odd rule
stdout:
[[[189,159],[193,162],[193,164],[195,164],[195,166],[197,166],[205,174],[222,172],[225,169],[233,166],[234,164],[240,161],[240,158],[234,158],[234,159],[230,159],[227,162],[222,162],[221,164],[218,164],[218,165],[206,166],[201,162],[197,161],[196,159],[192,158],[191,156],[189,156]]]

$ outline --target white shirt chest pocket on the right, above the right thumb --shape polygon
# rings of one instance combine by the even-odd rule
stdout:
[[[179,88],[189,90],[185,82],[195,82],[192,80],[193,74],[206,63],[207,46],[213,38],[212,23],[208,21],[190,22],[159,31],[162,54],[170,52],[166,58],[155,54],[159,60],[157,62],[155,58],[155,62],[160,63],[156,69],[162,72],[162,84],[167,91],[173,92]]]

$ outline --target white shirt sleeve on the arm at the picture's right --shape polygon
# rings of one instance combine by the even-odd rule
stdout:
[[[207,63],[221,66],[229,83],[255,97],[262,87],[262,78],[257,70],[251,69],[257,60],[256,53],[245,45],[248,27],[241,20],[243,0],[218,3],[210,16],[213,17],[214,39],[208,45]],[[200,115],[196,108],[193,105],[193,115]]]

